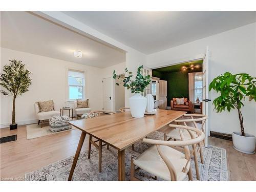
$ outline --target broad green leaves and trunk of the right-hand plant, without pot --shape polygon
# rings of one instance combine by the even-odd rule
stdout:
[[[249,100],[256,102],[255,86],[255,77],[251,77],[247,73],[232,75],[229,72],[219,75],[209,84],[209,91],[213,89],[221,93],[221,95],[212,102],[218,113],[224,110],[229,112],[231,109],[235,108],[238,110],[242,136],[245,136],[243,115],[241,113],[241,108],[244,106],[242,100],[245,100],[245,96],[248,96]]]

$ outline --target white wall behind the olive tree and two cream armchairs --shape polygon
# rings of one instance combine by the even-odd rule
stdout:
[[[36,122],[34,103],[52,99],[55,109],[59,110],[67,101],[67,69],[86,71],[86,98],[90,108],[102,109],[102,71],[74,62],[34,55],[25,52],[1,48],[1,70],[10,59],[22,60],[32,74],[29,91],[16,99],[16,122],[18,124]],[[3,71],[1,71],[3,72]],[[11,122],[12,97],[1,94],[1,126]]]

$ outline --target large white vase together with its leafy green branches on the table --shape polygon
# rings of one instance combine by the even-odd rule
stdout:
[[[138,68],[137,76],[134,80],[131,79],[133,77],[133,73],[128,72],[127,68],[124,69],[124,73],[121,75],[116,75],[116,71],[113,72],[113,78],[120,79],[120,83],[116,83],[117,86],[119,86],[119,84],[123,84],[123,86],[128,90],[130,89],[132,93],[135,93],[135,95],[129,98],[131,114],[135,118],[144,117],[147,99],[140,93],[143,92],[151,82],[150,75],[143,76],[141,74],[142,68],[143,66]]]

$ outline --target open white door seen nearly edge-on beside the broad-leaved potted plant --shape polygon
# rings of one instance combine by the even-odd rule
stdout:
[[[202,99],[202,105],[203,105],[203,114],[208,115],[208,65],[209,65],[209,49],[208,46],[206,47],[206,51],[203,57],[203,99]],[[208,144],[208,120],[205,121],[204,124],[204,131],[205,131],[205,146],[207,147]]]

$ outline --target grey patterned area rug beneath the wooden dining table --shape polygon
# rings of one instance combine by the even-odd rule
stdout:
[[[163,133],[154,132],[148,138],[163,139]],[[92,145],[93,146],[93,145]],[[151,145],[142,141],[135,143],[135,151],[132,147],[125,150],[125,178],[130,180],[130,165],[131,157],[138,156]],[[226,151],[223,148],[209,146],[203,148],[204,164],[199,163],[201,181],[228,181]],[[67,181],[69,172],[72,166],[73,158],[58,161],[48,166],[42,167],[34,172],[25,175],[26,181]],[[200,159],[200,157],[198,157]],[[196,170],[194,160],[191,160],[194,181],[196,179]],[[75,172],[73,175],[74,181],[117,181],[117,151],[110,147],[106,150],[102,148],[102,172],[98,172],[98,150],[92,147],[91,158],[88,159],[88,151],[82,152],[79,156]],[[154,176],[148,174],[144,170],[139,170],[136,177],[142,181],[155,181]],[[161,179],[158,179],[161,180]],[[186,178],[188,180],[188,178]]]

